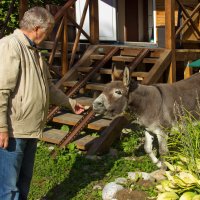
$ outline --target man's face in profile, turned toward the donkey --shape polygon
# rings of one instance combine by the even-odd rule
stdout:
[[[41,42],[43,42],[47,37],[48,35],[51,33],[53,27],[51,25],[49,25],[49,27],[47,29],[45,28],[42,28],[42,27],[36,27],[35,28],[35,40],[34,42],[38,45],[40,44]]]

